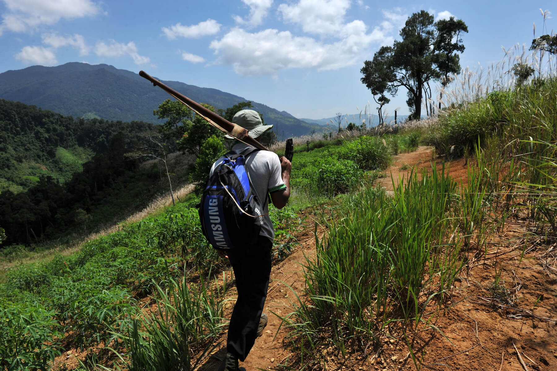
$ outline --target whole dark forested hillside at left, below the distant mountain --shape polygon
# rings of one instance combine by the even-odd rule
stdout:
[[[160,173],[125,156],[154,134],[134,121],[74,119],[0,100],[0,227],[10,243],[84,231],[141,208]]]

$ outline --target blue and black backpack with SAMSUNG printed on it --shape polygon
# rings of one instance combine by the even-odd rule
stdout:
[[[241,153],[225,154],[203,191],[199,207],[201,229],[217,250],[251,246],[257,241],[265,204],[244,166],[247,155],[257,150],[248,147]]]

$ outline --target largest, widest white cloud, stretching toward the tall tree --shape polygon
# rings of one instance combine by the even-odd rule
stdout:
[[[369,35],[365,30],[363,22],[354,21],[346,26],[342,40],[323,43],[289,31],[249,33],[233,28],[209,47],[217,53],[217,63],[232,65],[241,75],[272,75],[292,68],[336,70],[359,62],[360,53],[371,42],[392,42],[378,28]]]

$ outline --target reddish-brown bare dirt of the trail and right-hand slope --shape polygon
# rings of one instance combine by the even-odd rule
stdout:
[[[431,159],[431,149],[427,147],[399,154],[394,157],[392,167],[385,172],[387,177],[379,179],[378,183],[392,190],[393,181],[397,184],[414,165],[418,169],[431,169]],[[437,163],[440,166],[439,160]],[[404,169],[405,164],[409,165],[408,169]],[[448,166],[453,178],[466,184],[465,160],[451,162]],[[285,261],[272,268],[265,304],[269,322],[246,362],[241,363],[248,371],[281,370],[277,365],[291,355],[289,344],[283,344],[286,330],[281,328],[277,333],[281,320],[271,311],[281,316],[291,312],[291,301],[296,298],[286,285],[302,295],[305,286],[302,272],[304,255],[315,255],[311,214],[306,215],[304,224],[296,235],[301,245]],[[517,217],[506,223],[499,236],[494,236],[487,257],[484,258],[481,252],[477,253],[480,258],[476,258],[475,251],[470,251],[467,266],[455,287],[451,300],[453,305],[433,319],[444,336],[439,331],[424,328],[414,339],[413,348],[418,357],[423,355],[423,364],[429,365],[428,369],[557,370],[557,276],[554,255],[557,243],[538,237],[528,238],[529,228],[526,219]],[[318,229],[318,234],[323,234],[323,228]],[[554,243],[553,247],[551,243]],[[511,299],[507,304],[485,299],[491,297],[488,289],[494,283],[496,271],[500,272],[500,284],[506,287]],[[229,293],[233,295],[235,290]],[[228,303],[229,311],[233,301]],[[362,351],[356,351],[343,360],[333,353],[327,356],[327,370],[416,369],[402,338],[395,331],[391,335],[396,340],[384,339],[379,357],[376,353],[364,355]],[[221,349],[216,353],[217,357],[226,352],[226,334],[220,340]],[[218,360],[211,357],[199,370],[216,370],[218,364]]]

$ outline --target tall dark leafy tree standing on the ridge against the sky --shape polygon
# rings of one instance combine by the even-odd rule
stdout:
[[[395,96],[399,87],[408,91],[407,104],[414,119],[422,113],[424,96],[431,97],[429,81],[442,80],[446,85],[448,74],[460,71],[460,57],[463,52],[461,34],[468,32],[461,19],[451,17],[434,22],[426,11],[413,13],[400,30],[401,41],[393,46],[383,46],[372,61],[365,61],[360,72],[361,82],[372,94],[380,109],[388,102],[385,92]]]

